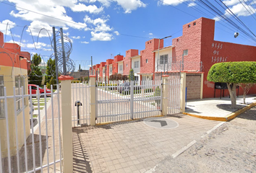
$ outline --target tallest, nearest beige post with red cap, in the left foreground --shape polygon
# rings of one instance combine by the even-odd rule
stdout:
[[[72,146],[72,105],[71,80],[72,76],[59,76],[61,81],[61,112],[62,112],[62,140],[64,172],[73,172],[73,146]]]

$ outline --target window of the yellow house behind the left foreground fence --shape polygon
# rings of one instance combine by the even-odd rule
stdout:
[[[22,76],[15,76],[15,94],[22,95],[22,86],[23,86],[23,94],[25,94],[25,79]],[[25,98],[24,98],[24,105]],[[22,110],[22,97],[16,97],[16,111],[19,112]]]

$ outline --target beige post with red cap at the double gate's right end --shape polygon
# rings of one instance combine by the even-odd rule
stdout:
[[[168,107],[168,75],[163,75],[162,76],[163,79],[163,91],[162,91],[162,115],[166,116],[167,115],[167,107]]]

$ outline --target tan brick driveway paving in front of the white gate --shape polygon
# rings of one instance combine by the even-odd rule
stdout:
[[[159,129],[134,120],[73,128],[74,172],[145,172],[219,123],[182,114],[166,118],[179,126]]]

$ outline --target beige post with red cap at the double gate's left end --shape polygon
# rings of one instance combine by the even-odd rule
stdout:
[[[90,125],[95,125],[96,118],[96,76],[90,76]]]

